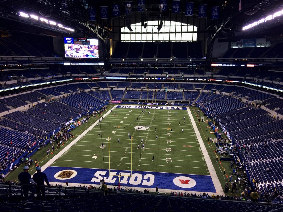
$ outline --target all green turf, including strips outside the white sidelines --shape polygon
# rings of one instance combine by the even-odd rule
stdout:
[[[112,109],[113,107],[111,107]],[[223,168],[226,168],[226,173],[231,173],[230,162],[222,161],[220,164],[219,161],[215,161],[215,145],[208,144],[207,137],[215,137],[215,135],[210,134],[210,131],[206,131],[208,126],[205,122],[198,122],[196,113],[193,112],[193,109],[198,109],[196,107],[190,107],[190,111],[193,114],[194,122],[196,122],[197,128],[201,127],[200,135],[207,149],[208,155],[205,157],[210,157],[215,168],[216,174],[221,185],[225,185],[228,182],[228,178],[223,174]],[[108,108],[108,110],[110,110]],[[107,137],[110,135],[112,138],[110,140],[110,150],[111,150],[111,169],[126,169],[130,170],[131,165],[131,149],[130,149],[130,140],[128,138],[128,132],[131,135],[134,135],[133,139],[133,162],[132,170],[143,170],[143,171],[156,171],[156,172],[174,172],[174,173],[187,173],[187,174],[204,174],[209,175],[209,171],[205,164],[203,154],[200,151],[199,144],[196,139],[194,130],[192,129],[191,120],[189,120],[187,111],[171,110],[168,113],[168,110],[156,109],[156,110],[147,110],[146,113],[141,113],[140,109],[120,109],[116,108],[116,116],[114,112],[109,114],[105,119],[102,120],[100,126],[96,126],[89,131],[80,141],[76,142],[66,153],[64,153],[57,161],[50,164],[48,161],[57,155],[62,149],[66,148],[68,144],[76,139],[83,131],[89,128],[98,118],[93,118],[89,120],[88,124],[77,127],[72,131],[75,135],[74,138],[69,139],[65,145],[61,146],[59,150],[55,149],[54,154],[46,155],[46,151],[43,149],[41,151],[35,152],[32,156],[33,159],[38,159],[38,164],[43,166],[48,163],[52,166],[70,166],[70,167],[85,167],[85,168],[100,168],[108,169],[109,168],[109,159],[108,159],[108,140]],[[131,111],[131,112],[129,112]],[[149,115],[147,112],[150,111]],[[129,115],[127,115],[130,113]],[[154,113],[154,114],[153,114]],[[141,115],[139,120],[136,120],[137,117]],[[168,116],[170,115],[170,116]],[[183,124],[182,117],[185,116],[185,124]],[[124,117],[127,117],[124,119]],[[153,121],[155,118],[155,121]],[[171,120],[167,120],[170,118]],[[206,120],[206,118],[205,118]],[[123,121],[123,123],[120,123]],[[179,125],[180,121],[180,125]],[[171,124],[167,124],[170,122]],[[116,126],[121,126],[116,128]],[[134,129],[135,126],[144,125],[151,127],[148,130],[138,132]],[[101,128],[100,128],[101,127]],[[167,133],[171,133],[167,127],[172,127],[172,135],[167,137]],[[155,128],[157,128],[158,139],[155,139],[156,133]],[[184,132],[181,133],[181,129],[184,128]],[[116,131],[115,134],[112,132]],[[101,136],[98,136],[100,132]],[[148,137],[146,138],[148,133]],[[117,140],[120,138],[120,143],[118,144]],[[145,149],[138,150],[137,145],[143,138],[145,143]],[[167,140],[171,140],[171,143]],[[100,148],[101,142],[103,142],[106,147],[102,150]],[[141,145],[141,144],[140,144]],[[189,146],[192,147],[184,147]],[[47,146],[49,147],[49,145]],[[51,146],[50,146],[51,147]],[[49,148],[50,148],[49,147]],[[168,149],[167,152],[167,148]],[[124,155],[125,153],[125,155]],[[152,156],[155,157],[155,162],[152,161]],[[97,157],[96,159],[93,157]],[[218,155],[218,157],[220,157]],[[172,162],[168,160],[166,163],[166,158],[172,158]],[[153,166],[153,163],[155,166]],[[156,166],[156,164],[158,166]],[[119,165],[119,166],[118,166]],[[117,168],[118,167],[118,168]],[[17,181],[18,174],[22,172],[23,164],[19,166],[14,172],[10,172],[5,180]],[[34,173],[34,167],[29,170],[30,173]],[[238,192],[241,193],[239,187]],[[234,195],[234,194],[233,194]]]

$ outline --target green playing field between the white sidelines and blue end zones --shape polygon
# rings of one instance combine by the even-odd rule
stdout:
[[[110,169],[209,175],[186,110],[147,109],[142,113],[141,109],[116,108],[115,113],[104,117],[52,166],[109,169],[109,136]],[[149,129],[138,131],[134,127],[139,125]],[[100,148],[102,143],[104,148]]]

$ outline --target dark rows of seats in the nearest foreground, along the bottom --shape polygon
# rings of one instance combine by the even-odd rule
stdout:
[[[20,189],[18,186],[12,186],[12,191],[15,195],[20,196]],[[47,188],[50,194],[58,193],[58,189]],[[100,192],[86,193],[79,189],[80,193],[77,195],[67,193],[67,195],[58,199],[50,200],[34,200],[29,203],[13,201],[3,201],[2,211],[220,211],[224,212],[227,208],[233,208],[232,211],[267,211],[280,212],[280,206],[262,206],[260,204],[252,204],[244,201],[234,200],[233,196],[220,197],[216,195],[213,199],[211,194],[208,197],[196,194],[196,198],[191,194],[186,196],[172,196],[172,195],[153,195],[132,193],[132,192],[109,192],[110,195],[102,196]],[[47,193],[48,194],[48,193]],[[182,193],[183,194],[183,193]],[[48,195],[51,196],[51,195]],[[228,199],[228,200],[227,200]],[[236,198],[237,200],[237,198]],[[235,209],[235,210],[234,210]]]

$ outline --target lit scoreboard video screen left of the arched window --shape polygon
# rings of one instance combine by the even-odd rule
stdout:
[[[64,38],[66,58],[98,58],[98,39]]]

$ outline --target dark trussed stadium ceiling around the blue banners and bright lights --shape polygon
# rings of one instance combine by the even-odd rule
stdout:
[[[129,0],[130,1],[130,0]],[[211,21],[209,12],[207,14],[207,31],[210,31],[213,27],[215,30],[211,31],[211,36],[217,36],[220,31],[224,31],[229,28],[229,32],[226,30],[227,36],[232,37],[233,33],[241,32],[242,27],[267,17],[270,14],[275,13],[278,10],[283,9],[282,0],[241,0],[242,10],[239,11],[238,0],[192,0],[194,2],[194,15],[198,13],[198,5],[207,4],[207,8],[211,6],[220,6],[220,17],[217,21]],[[172,1],[167,0],[168,10],[172,8]],[[185,2],[187,0],[181,0],[181,12],[185,11]],[[13,26],[10,21],[23,22],[17,16],[17,12],[22,11],[28,14],[37,14],[44,16],[49,20],[56,21],[67,27],[74,29],[76,32],[89,32],[96,34],[100,39],[106,40],[108,34],[112,30],[112,3],[119,3],[121,14],[125,10],[125,0],[109,1],[109,0],[0,0],[0,27],[5,28]],[[145,5],[158,5],[160,0],[145,0]],[[132,5],[137,5],[138,0],[132,0]],[[99,18],[100,6],[108,6],[109,18],[103,20]],[[88,21],[89,8],[97,9],[97,21],[95,23]],[[146,7],[147,8],[147,7]],[[209,9],[208,9],[209,10]],[[149,9],[149,12],[150,9]],[[166,16],[166,14],[165,14]],[[3,21],[6,20],[6,21]],[[278,17],[269,23],[259,25],[253,29],[243,32],[243,34],[271,34],[279,33],[282,27],[282,17]],[[3,23],[3,24],[2,24]],[[38,27],[35,23],[25,21],[29,24]],[[22,25],[22,24],[21,24]],[[281,27],[278,27],[278,26]],[[14,26],[18,27],[18,24]],[[44,28],[42,26],[39,26]],[[50,27],[49,27],[50,28]],[[217,30],[218,29],[218,30]],[[52,28],[50,31],[56,31]],[[62,33],[70,33],[68,31],[61,31]],[[231,34],[231,32],[233,32]]]

